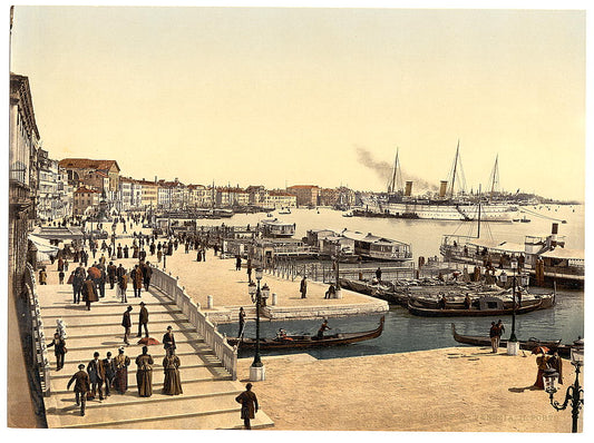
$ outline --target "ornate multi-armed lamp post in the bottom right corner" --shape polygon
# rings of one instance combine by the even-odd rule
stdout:
[[[565,401],[563,404],[553,398],[557,392],[557,378],[559,374],[555,370],[545,370],[543,375],[543,382],[545,391],[548,394],[551,405],[556,411],[563,411],[567,408],[569,401],[572,402],[572,433],[577,432],[577,419],[580,416],[580,410],[584,404],[584,390],[580,386],[580,368],[584,364],[584,341],[578,338],[572,346],[572,364],[575,366],[575,382],[567,387],[565,393]]]

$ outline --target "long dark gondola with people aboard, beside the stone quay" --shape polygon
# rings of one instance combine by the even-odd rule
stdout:
[[[383,332],[384,317],[380,318],[379,326],[373,331],[360,333],[339,333],[324,335],[318,339],[314,335],[288,335],[286,338],[260,338],[261,350],[293,350],[306,347],[327,347],[338,345],[350,345],[352,343],[364,342],[377,338]],[[240,350],[254,350],[255,338],[231,338],[227,337],[231,346],[238,345]]]

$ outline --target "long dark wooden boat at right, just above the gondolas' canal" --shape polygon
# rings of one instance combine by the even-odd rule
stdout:
[[[470,307],[469,309],[466,308],[431,308],[431,307],[423,307],[419,304],[417,304],[413,299],[408,301],[408,312],[412,315],[419,315],[422,317],[478,317],[478,316],[499,316],[499,315],[512,315],[513,308],[510,307],[503,307],[503,302],[498,298],[495,298],[491,303],[494,303],[494,307],[489,307],[489,303],[479,304],[479,307]],[[516,315],[520,314],[527,314],[529,312],[536,311],[541,308],[541,305],[543,304],[542,299],[535,299],[530,302],[523,303],[522,306],[516,308]]]

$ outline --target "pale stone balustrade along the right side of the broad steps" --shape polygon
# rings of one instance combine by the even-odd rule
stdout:
[[[173,277],[171,274],[153,268],[150,284],[175,302],[196,328],[196,332],[204,338],[205,344],[214,351],[232,378],[237,380],[237,347],[228,345],[225,337],[216,331],[215,325],[201,311],[199,304],[186,294],[184,287],[179,286],[178,279],[179,277]]]

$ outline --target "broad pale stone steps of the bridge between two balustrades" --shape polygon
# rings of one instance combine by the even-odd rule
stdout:
[[[55,273],[51,273],[55,274]],[[50,275],[50,283],[55,276]],[[72,304],[70,285],[38,286],[41,316],[48,342],[53,335],[56,321],[66,323],[67,347],[65,367],[57,372],[52,348],[49,348],[51,396],[46,398],[48,426],[51,427],[109,427],[109,429],[192,429],[217,430],[240,429],[240,404],[235,402],[244,385],[232,381],[228,372],[216,358],[202,337],[197,335],[187,318],[163,294],[157,291],[143,292],[140,298],[128,291],[128,303],[121,303],[116,289],[107,289],[106,297],[91,304],[87,311],[84,303]],[[143,301],[149,312],[149,333],[159,342],[167,325],[172,325],[177,345],[177,355],[182,361],[179,368],[182,395],[163,395],[162,345],[149,346],[149,354],[155,361],[153,372],[153,396],[139,397],[136,385],[135,358],[142,353],[142,345],[136,344],[139,302]],[[132,364],[128,367],[128,391],[125,394],[111,393],[106,400],[87,402],[86,416],[80,416],[76,406],[72,386],[66,386],[79,363],[85,365],[98,351],[100,358],[107,351],[115,356],[123,345],[124,328],[121,316],[127,305],[133,306],[130,345],[126,354]],[[260,411],[253,421],[254,427],[272,426],[273,422]]]

